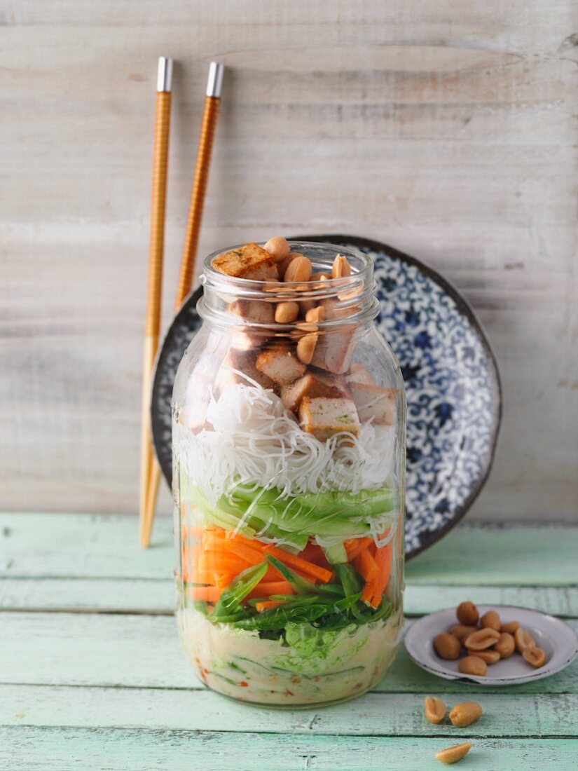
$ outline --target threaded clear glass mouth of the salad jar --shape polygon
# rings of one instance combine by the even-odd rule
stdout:
[[[263,247],[264,241],[256,242]],[[238,249],[244,244],[236,244],[219,249],[209,254],[203,262],[200,283],[203,284],[203,298],[199,301],[198,311],[202,318],[213,317],[221,323],[238,325],[240,319],[227,311],[227,306],[234,301],[263,301],[279,303],[287,301],[332,301],[334,307],[342,311],[341,318],[318,322],[320,325],[346,325],[373,319],[378,315],[379,304],[375,298],[377,284],[373,277],[373,261],[355,247],[343,247],[338,244],[325,244],[319,241],[290,241],[291,252],[304,254],[312,264],[313,272],[331,274],[334,258],[341,254],[351,266],[351,275],[342,278],[328,278],[323,281],[263,281],[248,278],[235,278],[220,273],[213,268],[213,260],[227,251]],[[349,311],[349,312],[348,312]],[[247,322],[245,322],[247,323]],[[252,326],[271,328],[269,324],[250,322]],[[279,329],[292,325],[275,323]]]

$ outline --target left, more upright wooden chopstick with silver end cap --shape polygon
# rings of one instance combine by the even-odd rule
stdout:
[[[143,542],[153,446],[150,439],[150,381],[156,349],[159,346],[160,301],[163,288],[163,251],[166,210],[166,170],[168,166],[170,103],[173,59],[161,56],[156,82],[156,109],[153,150],[153,186],[150,202],[149,274],[146,290],[146,319],[143,361],[143,400],[140,436],[140,540]]]

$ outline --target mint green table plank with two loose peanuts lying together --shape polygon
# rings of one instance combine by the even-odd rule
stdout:
[[[0,685],[0,726],[63,728],[140,728],[167,731],[288,733],[294,736],[540,736],[551,739],[576,732],[578,694],[520,695],[469,691],[444,695],[448,709],[477,701],[484,713],[472,726],[449,722],[435,728],[423,715],[429,692],[368,693],[331,709],[260,709],[191,689],[70,688]],[[507,719],[505,718],[507,715]]]

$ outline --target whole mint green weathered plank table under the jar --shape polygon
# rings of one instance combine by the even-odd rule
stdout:
[[[286,771],[578,768],[578,661],[547,680],[475,690],[400,651],[355,702],[281,712],[197,682],[176,635],[170,520],[153,547],[132,517],[0,515],[0,768]],[[578,628],[578,528],[463,525],[408,564],[408,623],[463,599],[539,608]],[[467,729],[432,726],[425,695],[477,699]]]

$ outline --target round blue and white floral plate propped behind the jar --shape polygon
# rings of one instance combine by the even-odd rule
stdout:
[[[375,262],[377,324],[402,367],[408,401],[405,554],[414,557],[458,522],[489,474],[502,397],[496,360],[472,309],[438,273],[377,241],[297,236],[353,246]],[[170,397],[180,359],[200,327],[187,298],[163,342],[153,381],[153,441],[170,483]]]

